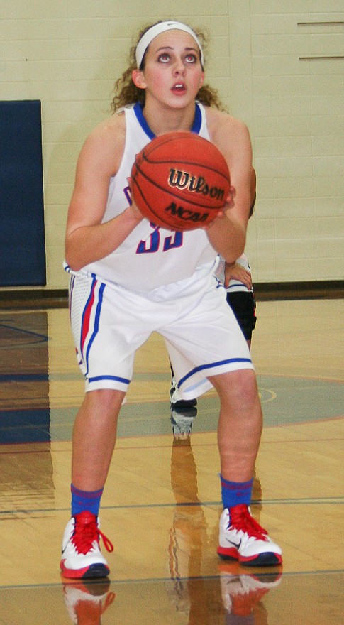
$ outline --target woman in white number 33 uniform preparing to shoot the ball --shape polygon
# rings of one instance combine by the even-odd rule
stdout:
[[[248,345],[226,291],[213,287],[217,255],[233,263],[245,246],[251,143],[245,125],[221,111],[216,92],[204,85],[202,48],[201,34],[184,23],[155,23],[141,32],[131,65],[116,82],[114,114],[91,132],[77,163],[65,268],[86,393],[73,430],[65,577],[109,574],[99,539],[113,547],[99,529],[99,504],[135,351],[154,331],[165,339],[182,397],[196,398],[214,386],[221,400],[218,553],[248,565],[282,560],[248,508],[262,412]],[[213,223],[182,233],[182,241],[143,218],[130,188],[135,155],[154,136],[179,129],[218,147],[233,185]]]

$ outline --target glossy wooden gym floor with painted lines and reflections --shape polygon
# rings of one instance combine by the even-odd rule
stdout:
[[[216,555],[213,393],[172,434],[165,348],[138,352],[102,500],[109,581],[65,583],[70,455],[83,381],[65,308],[0,310],[0,623],[337,625],[344,622],[343,300],[257,304],[253,359],[265,413],[253,514],[283,567]]]

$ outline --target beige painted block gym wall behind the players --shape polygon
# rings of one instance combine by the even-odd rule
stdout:
[[[247,252],[258,282],[343,279],[342,0],[1,0],[1,99],[40,99],[48,289],[62,271],[79,150],[109,114],[138,29],[206,28],[206,78],[248,124],[257,208]]]

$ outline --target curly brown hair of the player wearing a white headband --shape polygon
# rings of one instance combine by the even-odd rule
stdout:
[[[136,38],[136,43],[135,45],[131,46],[131,49],[129,52],[129,67],[125,72],[123,72],[121,77],[118,78],[118,80],[116,80],[115,85],[113,87],[114,96],[111,102],[112,113],[116,113],[116,111],[118,111],[118,109],[120,109],[121,107],[126,107],[129,104],[135,104],[136,102],[139,102],[140,104],[143,104],[143,105],[145,104],[145,89],[139,89],[138,87],[136,87],[131,77],[133,70],[136,69],[136,58],[135,58],[136,46],[138,45],[140,38],[143,37],[143,35],[150,28],[152,28],[152,26],[155,26],[155,24],[161,23],[162,21],[165,21],[165,20],[159,20],[153,24],[149,24],[148,26],[145,26],[145,28],[142,28],[140,32],[138,33],[138,37]],[[197,30],[197,31],[194,30],[194,33],[199,38],[201,42],[201,46],[204,50],[207,44],[207,38],[206,38],[205,33],[200,30]],[[143,70],[144,67],[145,67],[145,55],[143,56],[143,61],[140,65],[140,69]],[[202,85],[202,87],[199,89],[199,92],[196,95],[196,100],[198,102],[201,102],[201,104],[204,104],[206,107],[214,107],[220,111],[226,110],[226,108],[223,107],[220,97],[218,96],[217,89],[213,89],[213,87],[210,87],[210,85]]]

